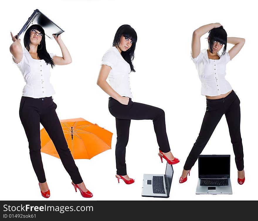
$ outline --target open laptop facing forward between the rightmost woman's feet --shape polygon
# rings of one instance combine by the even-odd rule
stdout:
[[[230,155],[199,155],[196,194],[232,194]]]

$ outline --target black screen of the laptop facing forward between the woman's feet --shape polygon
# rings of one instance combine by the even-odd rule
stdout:
[[[199,177],[230,177],[230,155],[198,158]]]

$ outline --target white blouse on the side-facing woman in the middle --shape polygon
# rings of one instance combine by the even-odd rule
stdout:
[[[111,70],[108,75],[109,85],[121,96],[132,98],[129,73],[130,65],[123,59],[116,47],[111,47],[103,55],[101,65],[108,65]]]

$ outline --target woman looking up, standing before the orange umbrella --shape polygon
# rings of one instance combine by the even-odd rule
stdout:
[[[53,35],[54,36],[54,35]],[[54,36],[62,51],[62,57],[48,53],[45,44],[45,32],[40,25],[31,25],[24,34],[24,46],[20,39],[13,37],[10,52],[14,63],[21,70],[26,82],[21,97],[19,115],[29,142],[30,159],[33,169],[39,181],[40,191],[43,197],[50,196],[45,172],[40,153],[40,123],[53,141],[58,155],[72,179],[75,190],[80,190],[83,197],[92,197],[92,193],[86,189],[72,154],[68,148],[62,126],[55,109],[52,95],[55,91],[50,84],[50,68],[55,65],[67,65],[72,58],[61,35]]]

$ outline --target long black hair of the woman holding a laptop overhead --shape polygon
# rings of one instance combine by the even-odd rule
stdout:
[[[46,49],[46,42],[45,42],[45,31],[44,29],[40,26],[40,25],[31,25],[27,31],[24,34],[24,46],[25,48],[30,51],[30,31],[32,29],[38,30],[41,34],[42,34],[42,39],[40,41],[40,44],[42,45],[42,47],[38,46],[38,57],[40,59],[43,59],[47,64],[50,64],[51,67],[53,68],[55,66],[53,59],[50,57],[49,53],[47,53],[47,49]]]

